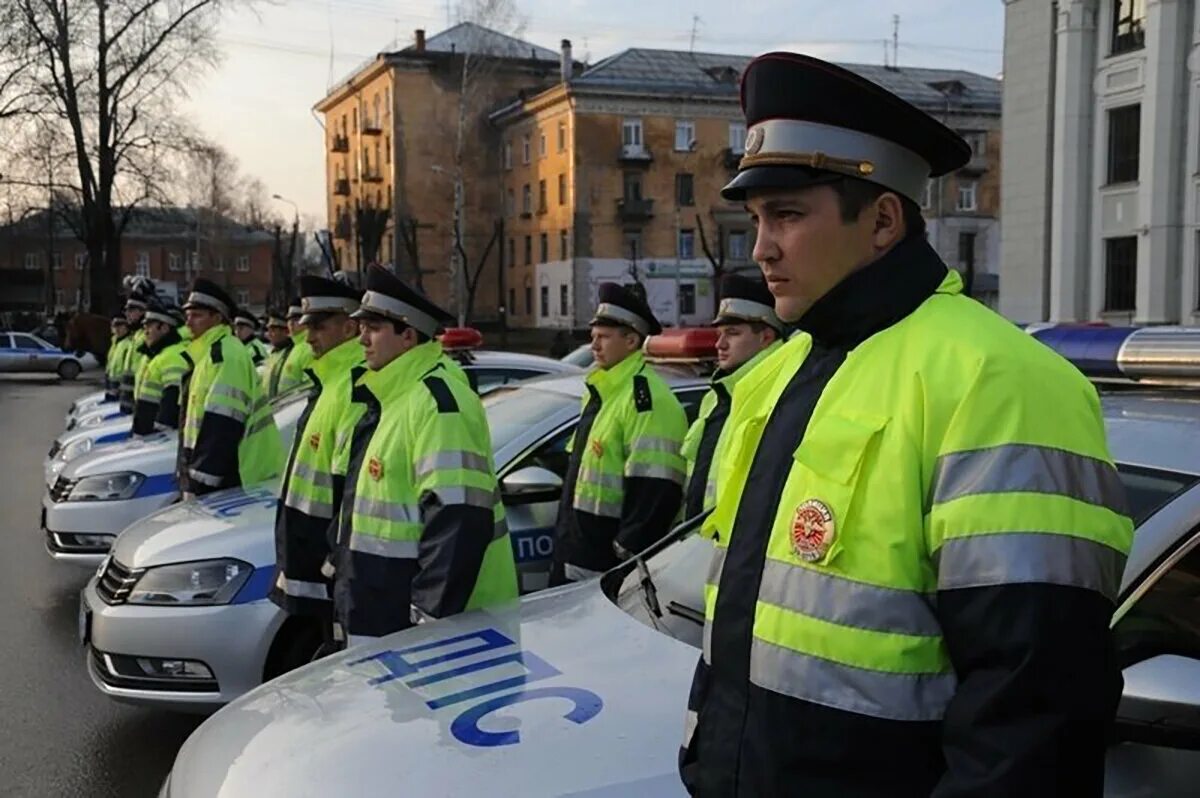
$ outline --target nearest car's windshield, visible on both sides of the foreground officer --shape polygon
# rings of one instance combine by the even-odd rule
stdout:
[[[1200,481],[1192,474],[1123,463],[1117,464],[1117,473],[1124,485],[1129,516],[1135,527]],[[704,581],[712,558],[713,544],[696,534],[658,550],[650,548],[644,559],[661,617],[647,606],[643,575],[636,569],[620,580],[616,604],[646,625],[698,648],[703,632]]]

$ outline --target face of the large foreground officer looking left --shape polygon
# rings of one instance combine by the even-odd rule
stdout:
[[[841,221],[832,186],[751,192],[746,211],[758,232],[754,259],[775,296],[775,312],[796,322],[851,272],[877,257],[872,204]]]

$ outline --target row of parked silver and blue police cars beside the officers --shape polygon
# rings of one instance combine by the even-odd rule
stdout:
[[[1138,526],[1112,622],[1126,691],[1106,794],[1192,796],[1200,392],[1158,383],[1200,377],[1200,330],[1031,334],[1106,380],[1105,424]],[[541,589],[583,371],[538,359],[517,373],[511,358],[463,359],[485,394],[526,595],[311,665],[317,630],[265,598],[276,486],[178,503],[169,437],[101,443],[122,421],[88,421],[106,412],[77,403],[46,463],[43,518],[52,556],[97,569],[79,612],[91,678],[118,701],[224,706],[184,745],[162,796],[683,794],[674,757],[709,545],[683,524],[599,580]],[[702,372],[656,367],[694,415]],[[286,442],[304,398],[276,400]],[[94,432],[72,438],[80,430]],[[80,439],[89,450],[64,456]]]

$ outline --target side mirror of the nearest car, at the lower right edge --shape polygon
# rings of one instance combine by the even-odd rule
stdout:
[[[1200,750],[1200,660],[1159,654],[1124,670],[1122,742]]]

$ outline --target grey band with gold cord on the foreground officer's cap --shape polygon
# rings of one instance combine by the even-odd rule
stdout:
[[[906,146],[860,131],[768,119],[746,132],[740,169],[793,166],[870,180],[920,204],[932,167]]]

